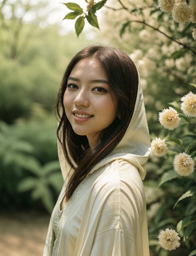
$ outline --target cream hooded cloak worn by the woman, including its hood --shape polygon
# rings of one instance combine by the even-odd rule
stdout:
[[[64,186],[51,214],[43,256],[149,256],[142,180],[151,141],[140,80],[124,137],[78,185],[60,215],[73,170],[58,140],[57,146]]]

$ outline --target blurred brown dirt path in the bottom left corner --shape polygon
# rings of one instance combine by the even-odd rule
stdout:
[[[0,212],[0,256],[42,256],[50,216]]]

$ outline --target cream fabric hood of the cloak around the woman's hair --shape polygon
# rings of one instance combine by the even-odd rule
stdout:
[[[68,183],[68,180],[73,174],[73,169],[71,169],[68,162],[65,161],[64,153],[58,140],[57,147],[61,172],[64,181]],[[98,168],[101,168],[116,159],[122,159],[128,161],[132,165],[135,165],[138,168],[141,179],[143,180],[146,175],[146,164],[150,154],[151,140],[149,136],[149,128],[146,119],[145,105],[139,76],[139,86],[135,102],[135,109],[125,135],[122,137],[122,140],[113,149],[113,151],[108,154],[107,157],[98,162],[98,164],[91,169],[88,175],[91,175],[91,173],[95,172],[95,170]]]

